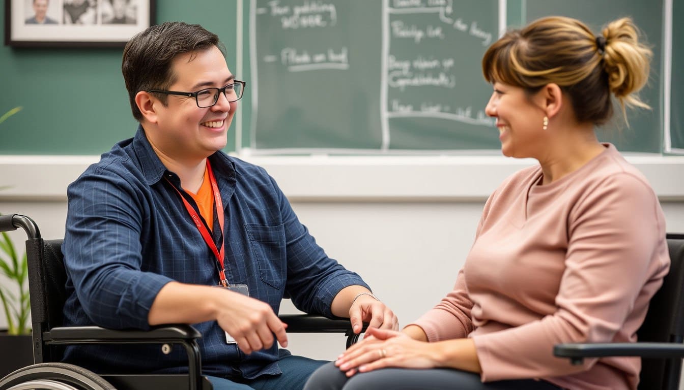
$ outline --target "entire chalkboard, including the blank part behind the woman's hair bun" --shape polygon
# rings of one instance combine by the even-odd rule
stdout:
[[[238,145],[257,154],[497,152],[497,130],[483,112],[491,87],[482,55],[505,27],[557,14],[595,33],[633,17],[654,52],[640,94],[653,110],[629,111],[624,126],[618,109],[598,134],[622,151],[662,152],[668,1],[250,0],[244,64],[251,101]],[[681,39],[681,27],[674,34]],[[684,48],[674,51],[676,60]],[[683,87],[677,74],[673,118],[681,115],[675,106],[684,102]],[[682,145],[681,125],[668,128],[673,147]]]

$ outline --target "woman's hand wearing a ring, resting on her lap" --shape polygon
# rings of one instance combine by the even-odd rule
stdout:
[[[347,376],[384,367],[438,367],[438,350],[408,335],[384,329],[369,328],[363,341],[354,344],[335,362]]]

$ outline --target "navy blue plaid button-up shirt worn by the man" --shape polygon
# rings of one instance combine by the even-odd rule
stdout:
[[[298,309],[328,317],[340,290],[367,287],[316,244],[263,168],[223,152],[209,161],[225,209],[229,283],[248,285],[250,296],[276,313],[289,297]],[[159,161],[140,126],[133,139],[115,145],[70,184],[62,246],[65,326],[148,329],[148,311],[166,283],[218,283],[215,257],[170,183],[180,189],[179,177]],[[214,238],[220,245],[220,234]],[[278,356],[289,353],[274,344],[246,355],[226,344],[215,321],[194,326],[202,333],[202,371],[208,375],[280,374]],[[64,360],[101,373],[187,372],[182,349],[165,355],[157,345],[72,346]]]

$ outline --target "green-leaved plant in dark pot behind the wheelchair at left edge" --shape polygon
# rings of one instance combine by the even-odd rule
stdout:
[[[0,116],[0,123],[19,111],[21,107],[11,109]],[[10,281],[0,284],[0,304],[8,324],[6,331],[0,331],[0,350],[12,351],[0,354],[1,378],[34,362],[26,254],[20,255],[16,251],[10,236],[5,232],[0,236],[0,275]]]

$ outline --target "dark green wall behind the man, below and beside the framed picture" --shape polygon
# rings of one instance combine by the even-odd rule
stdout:
[[[0,8],[3,27],[4,12]],[[235,1],[160,0],[156,12],[156,23],[200,23],[218,34],[235,72]],[[0,46],[0,114],[23,107],[0,125],[0,154],[101,154],[132,137],[137,122],[121,54],[122,48]]]

